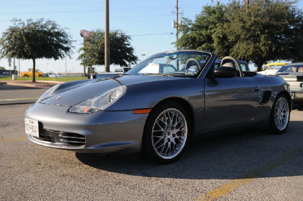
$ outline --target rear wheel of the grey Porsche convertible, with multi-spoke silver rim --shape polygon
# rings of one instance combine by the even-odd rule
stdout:
[[[270,114],[268,131],[273,134],[282,134],[288,127],[290,118],[289,99],[284,94],[278,94]]]

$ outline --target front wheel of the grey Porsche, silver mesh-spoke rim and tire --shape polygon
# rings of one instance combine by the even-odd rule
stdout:
[[[190,120],[184,108],[174,102],[164,102],[147,118],[142,139],[143,153],[156,163],[172,163],[184,153],[189,131]]]

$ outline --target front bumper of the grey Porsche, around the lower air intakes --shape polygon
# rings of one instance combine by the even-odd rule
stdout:
[[[36,144],[102,154],[138,153],[148,114],[132,111],[99,111],[90,114],[68,112],[70,107],[36,103],[25,118],[37,120],[39,137],[28,135]]]

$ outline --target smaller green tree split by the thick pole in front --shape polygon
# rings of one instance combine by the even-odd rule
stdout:
[[[83,66],[104,65],[104,37],[103,30],[92,31],[93,35],[86,39],[80,47],[78,60]],[[130,36],[121,30],[110,32],[110,63],[120,66],[135,64],[138,58],[134,55],[134,48],[130,44]]]

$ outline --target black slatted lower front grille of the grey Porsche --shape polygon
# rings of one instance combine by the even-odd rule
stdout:
[[[50,129],[39,129],[39,137],[34,137],[46,143],[58,143],[73,146],[84,146],[86,139],[79,133],[63,132]]]

